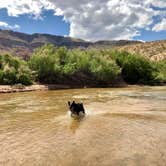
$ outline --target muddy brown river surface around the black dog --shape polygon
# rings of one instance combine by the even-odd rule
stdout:
[[[166,87],[0,94],[0,165],[165,166]]]

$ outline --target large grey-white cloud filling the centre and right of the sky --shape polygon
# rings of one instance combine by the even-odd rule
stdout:
[[[166,4],[152,0],[50,0],[69,21],[70,36],[88,40],[132,39],[139,29],[148,29],[153,17],[163,11],[152,6]],[[160,6],[159,6],[160,5]]]

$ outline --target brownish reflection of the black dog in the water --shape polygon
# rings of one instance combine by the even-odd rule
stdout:
[[[85,118],[84,115],[81,115],[81,116],[73,115],[73,116],[71,116],[70,130],[73,134],[79,128],[79,126],[80,126],[81,122],[84,120],[84,118]]]

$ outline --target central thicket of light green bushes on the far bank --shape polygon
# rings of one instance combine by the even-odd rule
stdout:
[[[30,58],[29,66],[37,72],[39,81],[45,83],[64,83],[72,78],[83,83],[87,80],[110,82],[120,73],[114,61],[100,57],[95,50],[67,50],[51,45],[38,49]]]

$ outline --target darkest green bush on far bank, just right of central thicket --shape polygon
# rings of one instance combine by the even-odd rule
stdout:
[[[127,52],[113,52],[112,58],[122,69],[122,77],[129,84],[153,84],[156,69],[145,57]]]

